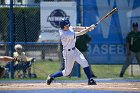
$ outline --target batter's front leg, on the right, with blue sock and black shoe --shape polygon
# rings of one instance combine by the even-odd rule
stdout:
[[[96,82],[93,80],[93,77],[90,73],[91,69],[84,55],[78,49],[75,50],[75,55],[76,55],[76,62],[82,66],[88,78],[88,85],[96,85]]]

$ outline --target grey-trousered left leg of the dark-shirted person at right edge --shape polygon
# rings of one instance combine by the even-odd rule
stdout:
[[[122,70],[120,72],[120,77],[123,77],[126,69],[128,68],[128,66],[132,63],[133,59],[135,57],[135,53],[131,52],[131,54],[129,56],[127,56],[126,61],[123,64]]]

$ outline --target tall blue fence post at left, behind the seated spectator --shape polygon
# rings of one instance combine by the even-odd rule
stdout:
[[[13,0],[10,0],[10,50],[11,57],[13,57],[14,52],[14,34],[13,34]],[[10,78],[14,79],[14,62],[10,63]]]

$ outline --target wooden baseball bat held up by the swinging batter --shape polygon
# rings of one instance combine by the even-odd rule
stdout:
[[[112,9],[109,13],[107,13],[104,17],[102,17],[96,24],[92,24],[89,28],[96,27],[99,23],[101,23],[106,18],[110,17],[116,11],[118,11],[117,8]]]

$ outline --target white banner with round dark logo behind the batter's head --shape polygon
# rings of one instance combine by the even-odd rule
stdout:
[[[41,34],[39,42],[60,42],[59,22],[69,18],[71,25],[76,25],[76,2],[41,2]]]

